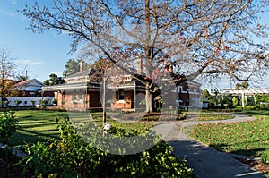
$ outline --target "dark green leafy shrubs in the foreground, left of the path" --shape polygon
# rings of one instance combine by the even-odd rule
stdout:
[[[122,156],[94,148],[85,142],[66,120],[59,126],[61,140],[28,144],[28,157],[22,161],[25,169],[32,168],[35,174],[47,177],[190,177],[186,161],[173,157],[173,148],[161,141],[154,148],[141,153]],[[126,131],[114,128],[114,135]],[[91,132],[94,134],[94,132]]]

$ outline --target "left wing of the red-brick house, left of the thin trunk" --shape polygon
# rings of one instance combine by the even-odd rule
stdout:
[[[101,107],[100,82],[90,81],[88,71],[81,71],[65,78],[65,84],[43,87],[53,91],[57,106],[83,110]]]

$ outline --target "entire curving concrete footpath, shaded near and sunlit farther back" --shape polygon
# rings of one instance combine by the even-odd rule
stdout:
[[[266,178],[261,172],[239,162],[234,158],[234,155],[207,147],[179,131],[182,126],[199,123],[238,123],[249,120],[253,120],[253,118],[246,115],[235,115],[233,119],[223,121],[195,122],[190,120],[161,124],[157,130],[159,132],[169,131],[163,140],[166,140],[174,147],[176,157],[187,159],[187,165],[193,169],[197,178]]]

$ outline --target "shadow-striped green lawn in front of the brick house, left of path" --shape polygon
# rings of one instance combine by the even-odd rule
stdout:
[[[59,138],[59,131],[56,120],[59,122],[64,121],[65,117],[76,116],[76,120],[88,121],[85,117],[89,114],[75,114],[57,111],[44,111],[44,110],[22,110],[16,111],[14,116],[18,120],[17,131],[13,134],[9,145],[17,146],[25,143],[36,143],[37,141],[46,141],[53,138]],[[91,113],[93,121],[99,126],[102,125],[102,113]],[[81,118],[80,118],[81,117]],[[126,131],[136,130],[138,132],[148,131],[152,128],[152,122],[136,122],[136,123],[120,123],[108,117],[107,120],[112,126],[125,129]]]

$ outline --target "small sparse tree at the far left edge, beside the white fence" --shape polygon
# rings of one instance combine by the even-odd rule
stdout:
[[[0,48],[0,96],[1,108],[4,106],[6,97],[11,97],[14,94],[13,85],[15,81],[13,77],[16,72],[15,58],[12,52],[5,47]]]

